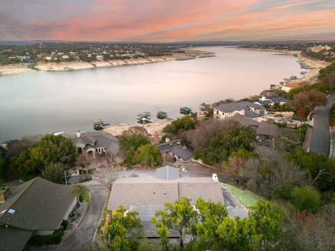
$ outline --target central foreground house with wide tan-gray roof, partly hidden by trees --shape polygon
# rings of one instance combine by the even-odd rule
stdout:
[[[156,211],[163,209],[164,202],[173,203],[181,197],[190,199],[193,206],[200,197],[224,204],[219,182],[210,177],[179,177],[179,169],[165,166],[156,169],[156,178],[118,178],[112,185],[107,209],[113,213],[121,205],[128,211],[136,211],[142,221],[145,236],[154,239],[159,236],[150,219]],[[169,238],[177,241],[179,234],[173,229],[170,231]]]

